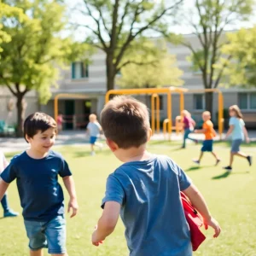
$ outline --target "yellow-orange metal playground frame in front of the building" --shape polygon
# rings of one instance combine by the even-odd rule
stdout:
[[[216,92],[218,93],[218,133],[219,137],[224,130],[224,98],[221,90],[218,89],[202,89],[202,90],[189,90],[177,87],[167,87],[167,88],[145,88],[145,89],[126,89],[126,90],[108,90],[105,96],[106,103],[109,101],[111,95],[144,95],[151,94],[151,129],[152,133],[160,132],[160,96],[166,94],[167,96],[167,119],[163,121],[163,133],[168,139],[171,139],[172,131],[175,130],[177,134],[183,130],[182,117],[177,116],[175,119],[175,125],[172,125],[172,93],[178,93],[180,96],[179,107],[180,113],[184,109],[184,94],[185,93],[206,93],[206,92]],[[58,94],[55,96],[54,100],[54,113],[55,120],[58,117],[58,100],[60,98],[66,99],[88,99],[88,96],[82,96],[77,94]]]

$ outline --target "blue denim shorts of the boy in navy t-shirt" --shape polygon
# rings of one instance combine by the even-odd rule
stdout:
[[[32,251],[48,248],[49,254],[66,253],[66,220],[57,216],[47,222],[24,220],[28,247]]]

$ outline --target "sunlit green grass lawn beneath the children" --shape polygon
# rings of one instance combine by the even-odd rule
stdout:
[[[205,155],[200,167],[195,166],[191,159],[198,156],[199,145],[191,144],[185,150],[180,150],[178,147],[177,143],[166,142],[152,142],[148,145],[148,149],[152,153],[167,154],[183,167],[183,170],[193,179],[205,196],[212,215],[218,219],[222,227],[222,233],[218,239],[213,239],[212,230],[207,230],[207,241],[195,255],[256,255],[255,165],[249,168],[246,160],[236,158],[234,171],[228,175],[221,168],[221,166],[227,165],[229,160],[230,148],[225,144],[216,144],[215,147],[222,159],[218,167],[214,166],[215,162],[211,154]],[[93,247],[90,243],[91,232],[102,212],[100,205],[105,192],[106,178],[120,165],[119,160],[116,160],[107,148],[92,157],[88,145],[65,146],[55,148],[55,150],[61,152],[69,163],[79,198],[79,215],[73,219],[67,217],[69,255],[128,255],[124,227],[120,221],[113,235],[108,237],[101,247]],[[243,148],[243,150],[253,154],[254,160],[256,160],[255,148],[249,147]],[[8,156],[10,157],[11,154]],[[11,207],[21,212],[15,183],[9,187],[9,202]],[[0,255],[28,254],[22,217],[1,218],[0,237]]]

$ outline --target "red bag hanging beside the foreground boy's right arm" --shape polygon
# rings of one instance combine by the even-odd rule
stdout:
[[[206,239],[206,236],[204,236],[200,230],[201,226],[203,225],[203,220],[199,212],[197,212],[192,206],[189,198],[184,195],[183,192],[180,192],[180,195],[183,202],[185,217],[189,224],[192,248],[193,251],[196,251],[201,243]]]

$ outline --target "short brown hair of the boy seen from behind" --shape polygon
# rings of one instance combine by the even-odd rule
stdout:
[[[128,96],[115,96],[101,113],[105,136],[119,148],[140,147],[148,141],[148,109],[142,102]]]

